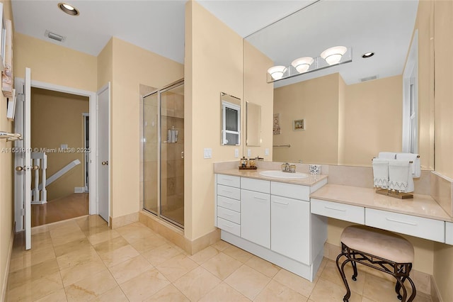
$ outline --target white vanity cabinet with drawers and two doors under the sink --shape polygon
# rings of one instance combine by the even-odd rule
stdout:
[[[323,259],[327,223],[311,215],[309,195],[327,179],[309,186],[229,177],[215,178],[222,240],[312,281]]]

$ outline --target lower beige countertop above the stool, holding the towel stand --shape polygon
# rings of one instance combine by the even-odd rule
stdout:
[[[377,194],[375,189],[326,184],[318,191],[311,193],[310,197],[324,201],[346,203],[352,206],[453,221],[453,218],[429,195],[414,194],[413,198],[410,199],[398,199]]]

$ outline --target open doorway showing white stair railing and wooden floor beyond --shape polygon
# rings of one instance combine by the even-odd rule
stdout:
[[[32,227],[89,213],[84,164],[88,111],[88,96],[31,88],[31,157],[39,167],[32,172]]]

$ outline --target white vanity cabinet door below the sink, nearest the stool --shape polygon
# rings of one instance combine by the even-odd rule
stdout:
[[[310,204],[272,196],[271,250],[310,264]]]

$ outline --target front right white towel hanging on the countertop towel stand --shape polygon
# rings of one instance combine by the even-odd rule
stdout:
[[[408,160],[389,160],[389,189],[413,191],[413,179]]]

